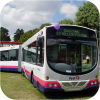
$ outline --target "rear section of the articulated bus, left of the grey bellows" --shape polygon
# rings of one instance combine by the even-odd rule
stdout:
[[[0,71],[21,72],[19,45],[0,47]]]

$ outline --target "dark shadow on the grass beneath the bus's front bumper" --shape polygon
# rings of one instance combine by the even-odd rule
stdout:
[[[61,92],[61,93],[47,93],[45,94],[48,99],[72,99],[72,98],[86,98],[94,97],[98,91],[81,91],[81,92]]]

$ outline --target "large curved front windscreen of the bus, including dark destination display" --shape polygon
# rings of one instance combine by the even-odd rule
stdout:
[[[65,32],[64,32],[65,31]],[[69,34],[67,34],[69,31]],[[64,33],[63,33],[64,32]],[[79,34],[74,35],[73,34]],[[70,37],[84,37],[84,39],[56,38],[58,35],[70,35]],[[53,38],[53,36],[55,36]],[[85,40],[85,38],[91,38]],[[47,62],[48,66],[58,73],[86,73],[91,71],[97,63],[97,42],[94,31],[61,27],[55,31],[53,27],[47,29]]]

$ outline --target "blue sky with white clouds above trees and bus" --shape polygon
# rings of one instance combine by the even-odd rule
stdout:
[[[80,6],[88,0],[12,0],[0,12],[0,27],[9,30],[13,41],[16,30],[24,32],[39,28],[43,23],[58,23],[63,19],[75,20]]]

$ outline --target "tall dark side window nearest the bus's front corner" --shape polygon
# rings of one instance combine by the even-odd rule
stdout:
[[[44,63],[44,37],[37,40],[36,64],[43,66]]]

